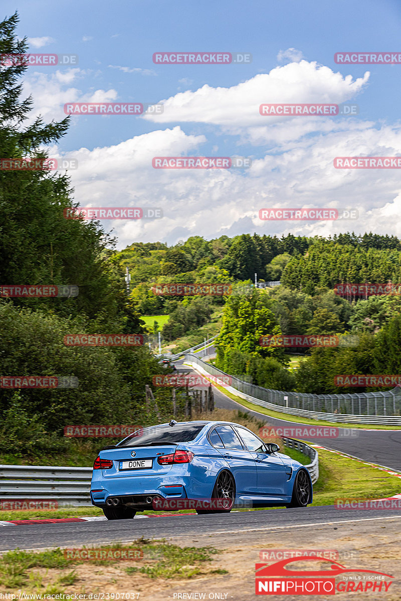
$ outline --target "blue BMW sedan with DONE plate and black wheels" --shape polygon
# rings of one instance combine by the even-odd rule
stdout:
[[[240,424],[173,419],[101,450],[91,501],[109,520],[161,508],[306,507],[309,472],[279,450]]]

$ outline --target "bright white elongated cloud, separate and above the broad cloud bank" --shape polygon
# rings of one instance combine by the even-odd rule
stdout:
[[[270,130],[271,127],[277,129],[277,124],[290,136],[297,129],[304,134],[320,127],[335,127],[334,121],[325,117],[262,116],[259,106],[283,102],[346,102],[363,90],[369,75],[366,72],[363,78],[354,81],[350,75],[344,77],[317,63],[290,63],[230,88],[204,85],[194,92],[178,93],[161,101],[164,104],[162,115],[148,114],[142,118],[158,123],[197,121],[215,124],[225,132],[246,135],[246,138],[252,133],[248,128]]]

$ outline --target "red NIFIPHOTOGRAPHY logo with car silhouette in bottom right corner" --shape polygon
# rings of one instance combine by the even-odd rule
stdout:
[[[326,568],[291,569],[288,564],[298,561],[319,561]],[[387,593],[394,578],[384,572],[349,570],[338,561],[322,557],[287,558],[273,564],[257,563],[255,593],[257,595],[334,595],[335,593]],[[337,579],[337,582],[336,582]]]

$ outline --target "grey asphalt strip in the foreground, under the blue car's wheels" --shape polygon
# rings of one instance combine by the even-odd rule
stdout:
[[[148,519],[102,522],[49,523],[0,528],[0,551],[10,549],[44,549],[111,542],[130,543],[137,538],[180,538],[225,534],[261,533],[277,529],[327,525],[340,528],[350,522],[386,523],[401,517],[398,510],[338,510],[334,506],[257,511],[233,511],[228,514],[150,517]],[[387,521],[388,521],[387,520]]]

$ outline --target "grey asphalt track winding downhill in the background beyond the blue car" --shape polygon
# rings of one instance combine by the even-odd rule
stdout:
[[[182,361],[177,361],[179,371],[193,371],[190,367],[182,365]],[[183,369],[185,368],[185,370]],[[246,409],[243,405],[236,403],[231,398],[226,397],[218,389],[214,388],[215,406],[224,409],[241,409],[257,418],[268,421],[271,426],[280,428],[299,428],[311,427],[308,424],[301,424],[283,419],[275,419],[264,413],[258,413]],[[295,436],[288,434],[289,438],[299,438],[304,441],[314,442],[335,451],[342,451],[358,459],[378,463],[386,468],[401,472],[401,429],[399,430],[372,430],[363,429],[344,429],[343,438],[310,438],[308,436]],[[349,434],[347,436],[346,434]]]

